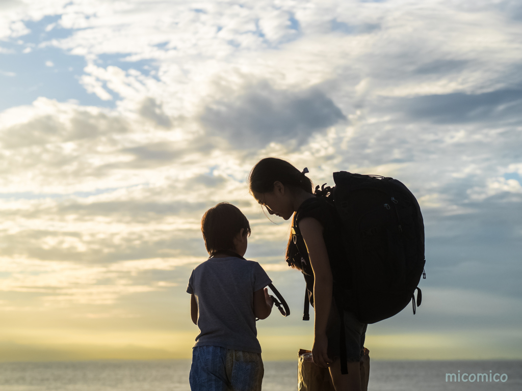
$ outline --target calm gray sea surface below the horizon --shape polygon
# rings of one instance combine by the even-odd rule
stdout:
[[[1,391],[189,391],[189,360],[0,363]],[[297,360],[265,362],[263,389],[297,390]],[[460,373],[458,372],[460,371]],[[446,373],[506,374],[446,382]],[[506,379],[506,376],[503,379]],[[473,376],[471,376],[473,378]],[[499,378],[499,376],[497,376]],[[488,378],[489,380],[489,378]],[[522,390],[522,361],[371,361],[370,391]]]

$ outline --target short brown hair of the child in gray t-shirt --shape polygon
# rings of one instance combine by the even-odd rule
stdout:
[[[220,250],[233,250],[234,237],[241,228],[250,236],[248,219],[238,207],[228,202],[211,207],[201,218],[201,232],[208,253],[214,255]]]

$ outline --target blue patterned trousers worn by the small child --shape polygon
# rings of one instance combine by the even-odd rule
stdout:
[[[192,391],[260,391],[265,369],[261,353],[220,346],[192,350]]]

